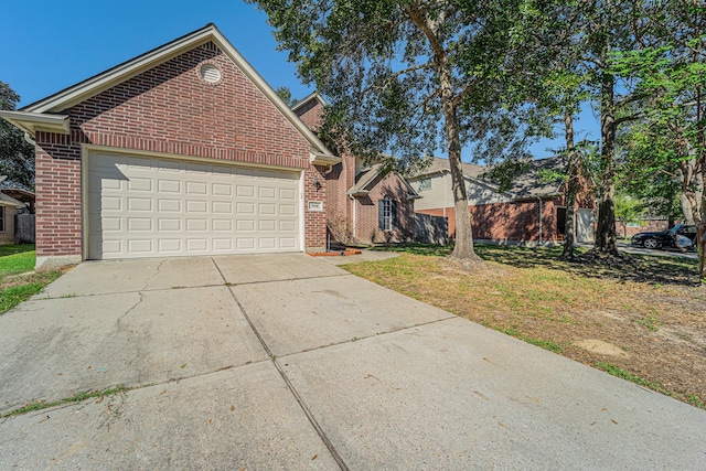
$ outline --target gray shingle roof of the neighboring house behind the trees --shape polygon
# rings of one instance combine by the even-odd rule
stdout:
[[[536,199],[548,197],[561,194],[561,182],[549,181],[544,182],[541,174],[545,170],[563,170],[564,160],[561,157],[555,156],[546,159],[532,160],[526,172],[515,176],[512,186],[506,193],[512,194],[515,199]],[[461,163],[463,175],[475,183],[498,189],[498,184],[492,182],[486,172],[491,169],[474,163]],[[435,157],[429,167],[416,172],[410,179],[418,180],[425,176],[431,176],[437,173],[450,172],[449,160]]]

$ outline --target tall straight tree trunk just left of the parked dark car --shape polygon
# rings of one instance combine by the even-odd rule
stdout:
[[[609,73],[602,73],[600,103],[601,175],[598,203],[598,227],[593,250],[601,255],[618,256],[616,236],[616,81]]]

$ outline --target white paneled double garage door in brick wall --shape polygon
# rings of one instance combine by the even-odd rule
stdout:
[[[299,173],[92,153],[88,258],[300,249]]]

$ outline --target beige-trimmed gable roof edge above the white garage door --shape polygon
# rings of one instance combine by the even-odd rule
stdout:
[[[334,161],[333,163],[340,161],[340,158],[333,156],[325,144],[289,109],[287,104],[213,23],[28,105],[19,111],[2,111],[0,117],[23,129],[30,136],[34,136],[34,132],[39,130],[68,133],[68,116],[64,114],[66,109],[207,42],[216,44],[292,124],[295,129],[309,141],[312,148],[312,163],[331,164],[331,161]]]

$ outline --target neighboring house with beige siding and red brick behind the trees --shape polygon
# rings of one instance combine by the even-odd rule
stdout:
[[[557,157],[534,160],[527,172],[513,181],[510,190],[501,192],[496,184],[484,178],[486,168],[463,163],[473,239],[528,245],[561,242],[566,216],[561,183],[544,183],[542,175],[543,170],[556,170],[560,165]],[[435,158],[427,169],[408,180],[421,196],[415,201],[415,211],[448,217],[449,237],[454,237],[456,212],[449,161]],[[575,226],[578,242],[593,240],[592,200],[579,204]]]

